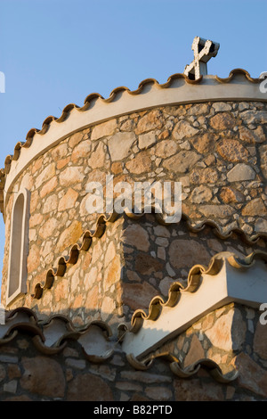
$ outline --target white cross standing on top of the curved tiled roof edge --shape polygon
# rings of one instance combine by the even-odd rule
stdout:
[[[206,76],[206,63],[217,55],[219,47],[220,44],[216,42],[204,39],[203,37],[194,37],[192,43],[194,60],[185,66],[183,74],[193,80],[196,80],[201,75]]]

